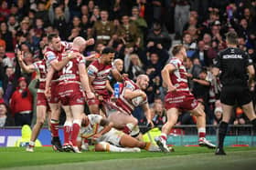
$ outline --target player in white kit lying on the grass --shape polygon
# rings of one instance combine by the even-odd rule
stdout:
[[[81,138],[86,138],[95,143],[95,151],[140,152],[140,149],[160,151],[157,145],[138,141],[116,130],[112,125],[112,122],[101,115],[82,115],[78,145],[81,144]]]

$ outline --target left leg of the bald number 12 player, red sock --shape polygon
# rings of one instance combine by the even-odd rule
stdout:
[[[64,144],[62,146],[63,150],[65,152],[69,152],[69,141],[70,141],[70,136],[72,132],[72,125],[73,125],[73,117],[71,114],[71,109],[69,105],[63,105],[62,108],[65,111],[66,114],[66,121],[64,123],[63,127],[63,133],[64,133]]]

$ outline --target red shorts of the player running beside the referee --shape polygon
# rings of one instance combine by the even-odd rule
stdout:
[[[197,99],[190,92],[168,92],[165,95],[165,109],[177,108],[180,111],[194,110]]]

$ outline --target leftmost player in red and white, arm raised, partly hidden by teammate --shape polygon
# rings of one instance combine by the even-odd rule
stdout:
[[[45,53],[45,48],[42,50],[43,54]],[[44,94],[45,91],[45,85],[46,85],[46,76],[47,76],[47,69],[46,69],[46,60],[42,59],[33,65],[26,65],[23,61],[23,52],[18,52],[17,58],[18,58],[18,63],[22,70],[24,70],[27,73],[33,73],[37,72],[37,75],[39,75],[39,86],[37,89],[37,123],[34,125],[33,130],[32,130],[32,135],[30,138],[29,145],[27,147],[28,152],[33,152],[34,151],[34,146],[35,146],[35,141],[37,139],[37,135],[40,132],[40,129],[44,125],[46,115],[49,111],[48,108],[48,101],[47,98]]]

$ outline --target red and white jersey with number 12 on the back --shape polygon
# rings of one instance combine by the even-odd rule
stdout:
[[[76,50],[69,50],[63,53],[62,57],[68,57],[69,53],[79,53]],[[59,71],[59,84],[61,83],[78,83],[80,84],[79,65],[85,65],[85,59],[81,55],[69,60],[62,70]]]

